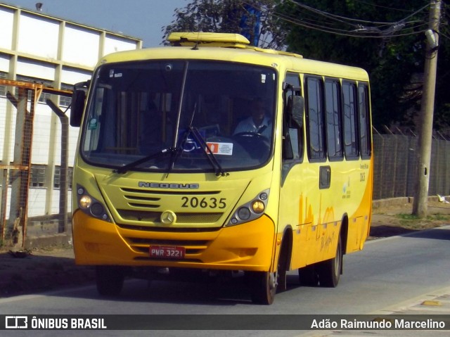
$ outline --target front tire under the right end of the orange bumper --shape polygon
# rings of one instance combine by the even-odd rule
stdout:
[[[276,273],[252,272],[250,274],[252,302],[270,305],[274,303],[276,294]]]

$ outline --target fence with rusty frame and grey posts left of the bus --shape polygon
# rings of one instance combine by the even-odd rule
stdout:
[[[60,233],[68,229],[68,117],[51,95],[70,96],[71,91],[0,79],[0,246],[24,246],[30,222],[41,228],[55,222]],[[60,118],[60,153],[49,144],[52,113]],[[51,202],[49,209],[44,205],[56,182],[59,207],[53,211]]]

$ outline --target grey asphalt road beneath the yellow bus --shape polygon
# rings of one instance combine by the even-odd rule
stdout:
[[[0,313],[390,314],[420,296],[450,288],[449,255],[450,226],[447,226],[369,241],[363,251],[345,255],[344,274],[337,288],[300,286],[297,274],[290,272],[288,291],[278,293],[270,306],[253,305],[242,280],[235,277],[215,283],[153,281],[149,287],[146,281],[130,280],[119,298],[100,298],[94,286],[23,295],[0,299]],[[444,314],[449,312],[444,310]],[[61,333],[3,332],[2,336],[60,336]],[[87,332],[65,331],[64,335],[91,336],[92,332]],[[230,331],[127,331],[127,336],[299,336],[302,333],[325,336],[325,333],[311,335],[311,331],[233,331],[232,327]],[[95,335],[124,336],[124,331],[96,331]]]

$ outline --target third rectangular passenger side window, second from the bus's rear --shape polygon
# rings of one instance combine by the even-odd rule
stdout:
[[[356,84],[342,82],[342,113],[344,122],[345,158],[359,158],[358,118],[356,106]]]

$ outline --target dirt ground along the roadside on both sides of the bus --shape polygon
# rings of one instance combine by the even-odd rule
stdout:
[[[448,203],[430,202],[427,220],[415,219],[411,212],[411,203],[374,208],[368,240],[450,224]],[[0,248],[0,298],[79,286],[93,280],[94,268],[75,265],[71,246],[34,249],[24,256]]]

